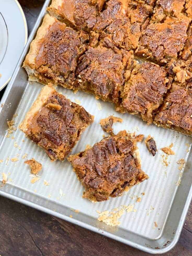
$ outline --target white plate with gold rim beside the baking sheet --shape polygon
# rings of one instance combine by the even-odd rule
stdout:
[[[0,1],[0,91],[7,85],[27,42],[27,22],[17,0]]]

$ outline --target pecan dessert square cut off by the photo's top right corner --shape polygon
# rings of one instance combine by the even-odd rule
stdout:
[[[154,8],[152,20],[161,22],[167,16],[179,19],[191,20],[191,0],[157,0]]]

